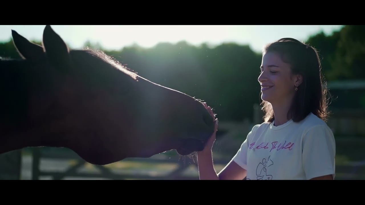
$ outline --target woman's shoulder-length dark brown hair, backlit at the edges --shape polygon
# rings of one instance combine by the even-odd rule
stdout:
[[[328,99],[327,86],[321,72],[321,63],[318,51],[305,43],[293,38],[282,38],[270,43],[263,49],[263,54],[275,52],[281,56],[285,63],[291,65],[292,74],[300,74],[302,83],[298,86],[288,119],[299,122],[311,112],[327,121]],[[262,110],[265,112],[265,122],[274,121],[274,112],[269,102],[263,101]]]

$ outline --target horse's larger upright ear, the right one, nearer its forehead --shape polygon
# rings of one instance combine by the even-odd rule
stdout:
[[[43,31],[42,44],[47,58],[54,66],[60,69],[67,69],[71,66],[69,47],[49,25]]]

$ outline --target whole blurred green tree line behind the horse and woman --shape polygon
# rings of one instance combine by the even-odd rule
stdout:
[[[328,36],[320,32],[306,42],[319,50],[327,81],[364,80],[365,26],[346,25]],[[85,46],[104,50],[88,41]],[[262,54],[247,45],[178,42],[104,51],[150,81],[206,101],[220,120],[252,119],[254,104],[261,102],[257,78]],[[0,55],[19,58],[11,39],[0,43]]]

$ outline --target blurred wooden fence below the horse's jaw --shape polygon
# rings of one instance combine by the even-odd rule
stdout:
[[[32,172],[32,179],[37,180],[41,176],[50,176],[53,180],[64,179],[65,177],[91,177],[91,178],[105,178],[105,179],[162,179],[162,180],[195,180],[199,179],[197,175],[189,176],[184,175],[184,171],[186,171],[189,167],[197,166],[196,161],[191,158],[178,158],[176,156],[165,158],[165,159],[156,159],[153,157],[151,158],[127,158],[120,162],[116,163],[141,163],[141,164],[151,164],[155,167],[161,166],[164,164],[175,165],[174,168],[168,171],[165,174],[160,175],[153,175],[153,174],[141,174],[137,171],[120,171],[116,170],[113,171],[112,168],[106,166],[99,166],[99,165],[91,165],[85,160],[78,157],[76,154],[65,154],[65,155],[54,155],[54,154],[42,154],[41,148],[33,148],[33,172]],[[71,166],[69,166],[66,170],[54,170],[54,171],[43,171],[41,169],[41,159],[47,160],[68,160],[72,161]],[[214,160],[216,165],[225,165],[227,160]],[[95,169],[90,173],[82,172],[80,170],[82,167],[87,165],[91,165]],[[119,173],[118,173],[119,171]],[[161,172],[166,172],[161,171]]]

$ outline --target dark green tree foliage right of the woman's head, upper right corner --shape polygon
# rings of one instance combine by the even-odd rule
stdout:
[[[365,79],[364,25],[346,25],[330,36],[321,32],[311,36],[307,43],[320,51],[328,81]]]

